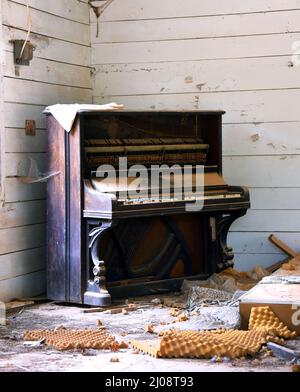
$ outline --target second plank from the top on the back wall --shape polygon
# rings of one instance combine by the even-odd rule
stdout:
[[[198,7],[199,9],[200,7]],[[91,26],[92,43],[164,41],[207,37],[278,34],[299,31],[300,10],[236,14],[224,16],[195,16],[102,23],[97,37],[97,23]]]

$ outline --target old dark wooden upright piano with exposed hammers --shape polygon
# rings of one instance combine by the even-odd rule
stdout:
[[[50,299],[107,306],[233,266],[227,234],[250,202],[222,177],[223,114],[82,111],[70,133],[47,115]]]

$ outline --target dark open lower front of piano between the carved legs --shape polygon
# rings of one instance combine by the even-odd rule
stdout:
[[[203,223],[195,215],[120,221],[113,232],[107,233],[101,247],[101,257],[109,260],[108,287],[129,279],[174,279],[200,274],[205,264]]]

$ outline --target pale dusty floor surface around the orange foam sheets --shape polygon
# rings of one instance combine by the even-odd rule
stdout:
[[[69,328],[97,328],[100,319],[107,330],[118,340],[149,339],[153,336],[144,332],[144,326],[152,322],[170,322],[169,308],[151,306],[130,312],[127,315],[83,313],[79,306],[64,306],[45,303],[25,308],[8,317],[10,325],[0,326],[0,372],[272,372],[290,371],[284,361],[268,357],[258,359],[232,360],[212,363],[209,360],[155,359],[148,355],[135,354],[129,348],[118,353],[100,350],[71,350],[60,352],[51,348],[26,347],[23,333],[31,329],[50,329],[63,325]],[[155,336],[153,336],[155,337]],[[300,341],[288,343],[300,349]],[[112,357],[118,357],[118,363],[111,363]]]

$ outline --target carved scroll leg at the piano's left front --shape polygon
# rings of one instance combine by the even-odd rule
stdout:
[[[106,288],[105,261],[100,260],[99,244],[103,235],[112,228],[112,222],[102,222],[89,233],[89,255],[92,261],[93,280],[88,280],[88,288],[84,294],[84,303],[93,306],[109,306],[111,295]],[[89,263],[91,264],[91,261]],[[89,274],[90,275],[90,274]]]

